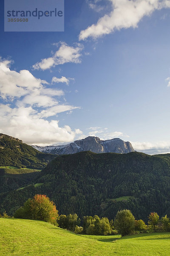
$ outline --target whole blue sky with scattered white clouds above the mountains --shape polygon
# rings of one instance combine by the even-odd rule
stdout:
[[[1,133],[170,152],[170,0],[65,0],[64,32],[4,32],[3,8]]]

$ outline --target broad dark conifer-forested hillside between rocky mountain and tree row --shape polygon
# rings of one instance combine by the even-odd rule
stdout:
[[[0,195],[0,211],[13,212],[35,194],[53,200],[59,214],[76,212],[114,218],[130,209],[136,218],[150,212],[170,215],[170,154],[150,156],[80,152],[55,158],[34,184]]]

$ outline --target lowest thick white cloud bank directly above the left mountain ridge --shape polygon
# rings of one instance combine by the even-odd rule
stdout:
[[[79,129],[74,131],[68,125],[59,127],[59,121],[47,121],[37,116],[31,107],[10,108],[0,105],[0,132],[20,138],[28,144],[51,145],[74,141]]]

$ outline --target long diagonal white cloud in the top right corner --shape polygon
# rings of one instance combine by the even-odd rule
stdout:
[[[111,12],[99,18],[96,24],[82,30],[79,34],[79,40],[85,40],[88,37],[95,39],[122,28],[136,28],[144,16],[151,15],[155,10],[170,8],[169,0],[109,1],[112,4]]]

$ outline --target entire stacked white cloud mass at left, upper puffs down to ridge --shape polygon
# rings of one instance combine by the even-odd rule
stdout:
[[[68,125],[59,127],[58,113],[78,107],[62,104],[56,97],[64,96],[59,89],[51,89],[48,82],[35,78],[28,70],[10,69],[11,61],[0,59],[0,133],[18,137],[28,144],[51,145],[71,142],[79,129]],[[47,120],[55,116],[55,120]]]

